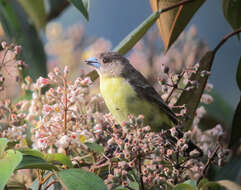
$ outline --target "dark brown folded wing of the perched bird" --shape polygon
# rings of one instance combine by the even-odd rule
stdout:
[[[149,84],[145,77],[130,65],[128,69],[125,69],[122,73],[123,77],[128,80],[131,86],[134,87],[138,96],[155,102],[159,105],[160,109],[164,111],[174,124],[178,124],[178,119],[175,113],[169,108],[169,106],[162,100],[157,91]]]

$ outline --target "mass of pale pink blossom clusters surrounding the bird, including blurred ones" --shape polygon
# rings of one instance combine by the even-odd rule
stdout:
[[[67,45],[74,51],[74,47],[82,42],[83,36],[75,34],[79,31],[83,34],[83,30],[75,26],[72,28],[75,31],[72,37],[68,35],[69,32],[63,34],[60,25],[53,24],[46,30],[49,40],[46,49],[55,56],[53,60],[64,61],[63,65],[73,57],[79,59],[97,53],[100,47],[104,50],[110,48],[107,41],[98,39],[85,51],[80,50],[81,55],[77,55],[76,51],[71,58],[66,56],[66,59],[62,59],[69,54],[61,53],[69,49]],[[137,44],[129,59],[157,87],[163,99],[174,107],[183,91],[198,86],[196,81],[190,81],[189,78],[197,71],[199,63],[196,62],[206,46],[197,40],[193,28],[188,34],[182,35],[168,55],[161,54],[156,47],[149,47],[155,39],[154,32],[147,35],[144,41]],[[59,49],[52,48],[58,46],[56,44]],[[180,50],[180,44],[185,44],[184,49]],[[2,46],[7,47],[5,43]],[[17,54],[20,47],[12,50]],[[200,152],[187,152],[191,141],[202,149],[207,163],[212,160],[222,165],[225,161],[228,150],[221,145],[220,139],[224,135],[221,125],[204,132],[199,129],[200,121],[207,113],[203,106],[196,110],[192,130],[181,137],[177,126],[159,133],[152,132],[150,126],[143,125],[142,115],[137,118],[130,115],[128,121],[119,125],[111,114],[106,113],[103,99],[96,93],[95,86],[91,85],[90,78],[81,73],[80,77],[72,80],[70,70],[73,65],[58,68],[54,67],[56,62],[49,63],[51,72],[47,78],[40,77],[33,82],[26,77],[21,81],[23,95],[28,98],[16,104],[7,99],[0,102],[0,137],[15,142],[16,148],[32,146],[30,148],[44,153],[64,153],[72,159],[75,167],[83,165],[92,172],[100,172],[110,189],[120,185],[130,187],[135,181],[147,189],[164,188],[187,178],[202,177],[206,165],[197,158]],[[191,85],[186,88],[188,83]],[[210,104],[213,101],[209,95],[211,89],[212,85],[207,84],[200,100],[202,103]],[[185,117],[185,105],[181,108],[177,115]],[[95,152],[88,143],[104,147],[104,151]]]

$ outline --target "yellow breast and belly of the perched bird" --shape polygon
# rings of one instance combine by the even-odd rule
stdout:
[[[128,121],[128,115],[144,115],[144,124],[150,125],[153,131],[160,131],[172,126],[168,116],[159,105],[148,102],[137,96],[135,90],[123,78],[100,77],[100,91],[107,108],[118,123]]]

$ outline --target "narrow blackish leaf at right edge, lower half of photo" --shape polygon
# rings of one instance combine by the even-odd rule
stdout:
[[[240,97],[240,101],[238,103],[238,106],[235,110],[235,114],[233,117],[229,147],[232,147],[236,143],[239,143],[239,140],[241,138],[241,122],[240,121],[241,121],[241,97]]]

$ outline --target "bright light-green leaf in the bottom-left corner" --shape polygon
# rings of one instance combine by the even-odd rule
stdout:
[[[3,146],[6,147],[4,141],[5,140],[1,140],[1,149]],[[22,154],[19,151],[7,150],[6,152],[2,152],[0,157],[0,190],[4,188],[9,177],[21,160]]]

